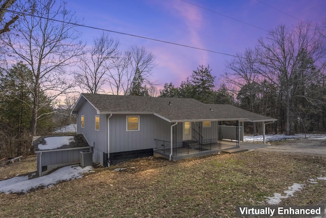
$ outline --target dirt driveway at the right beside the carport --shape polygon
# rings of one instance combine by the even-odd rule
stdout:
[[[271,145],[268,147],[256,149],[256,151],[326,156],[326,140],[294,139],[277,141],[271,142]]]

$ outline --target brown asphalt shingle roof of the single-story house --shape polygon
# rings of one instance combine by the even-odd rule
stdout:
[[[155,113],[171,122],[182,120],[273,121],[274,118],[252,113],[232,105],[204,104],[194,99],[153,98],[149,96],[83,93],[72,113],[89,101],[99,113]]]

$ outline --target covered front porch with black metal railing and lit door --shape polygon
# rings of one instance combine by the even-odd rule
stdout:
[[[244,143],[244,121],[252,122],[244,119],[175,122],[171,124],[170,140],[154,139],[153,154],[155,157],[180,160],[230,150],[248,151],[240,148],[240,144]],[[260,122],[265,125],[264,120]]]

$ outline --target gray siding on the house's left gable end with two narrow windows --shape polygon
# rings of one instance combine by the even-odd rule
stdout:
[[[84,115],[85,127],[81,127]],[[95,130],[95,116],[100,116],[100,130]],[[107,114],[97,114],[95,108],[87,101],[78,111],[78,134],[83,134],[88,144],[93,147],[93,161],[103,164],[103,153],[107,153]]]

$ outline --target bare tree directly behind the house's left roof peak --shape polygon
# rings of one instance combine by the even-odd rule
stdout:
[[[93,41],[93,47],[88,49],[80,58],[79,70],[75,79],[80,87],[90,93],[104,92],[102,86],[107,82],[106,75],[112,68],[111,63],[116,60],[119,41],[102,33]]]

